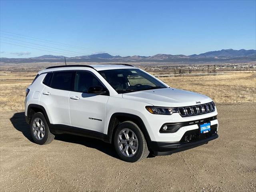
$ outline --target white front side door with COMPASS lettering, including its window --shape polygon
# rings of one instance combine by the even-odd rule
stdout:
[[[105,86],[89,71],[77,71],[74,91],[69,94],[72,131],[92,130],[104,133],[108,95],[88,94],[91,86]]]

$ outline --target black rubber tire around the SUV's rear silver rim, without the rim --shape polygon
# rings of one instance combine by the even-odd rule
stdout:
[[[41,140],[39,140],[33,133],[33,122],[35,119],[40,119],[42,120],[42,123],[44,124],[44,136],[42,137]],[[54,140],[54,134],[52,134],[50,132],[49,126],[47,124],[47,121],[44,117],[44,115],[41,112],[37,112],[33,115],[31,121],[30,121],[30,134],[32,136],[32,139],[34,140],[34,142],[36,144],[39,145],[45,145],[45,144],[49,144],[50,142],[52,142],[52,140]]]

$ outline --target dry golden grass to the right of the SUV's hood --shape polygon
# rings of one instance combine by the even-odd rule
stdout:
[[[256,102],[256,73],[160,78],[173,88],[209,96],[214,102]]]

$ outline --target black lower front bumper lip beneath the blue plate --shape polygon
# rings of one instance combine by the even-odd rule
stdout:
[[[153,151],[154,155],[170,155],[180,151],[188,150],[200,145],[207,144],[209,141],[218,138],[218,134],[214,134],[208,138],[202,140],[197,140],[193,142],[180,143],[180,142],[154,142],[150,144],[150,148]]]

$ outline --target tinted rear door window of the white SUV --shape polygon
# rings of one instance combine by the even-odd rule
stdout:
[[[73,91],[75,74],[76,72],[74,71],[54,72],[51,87],[54,89]]]

